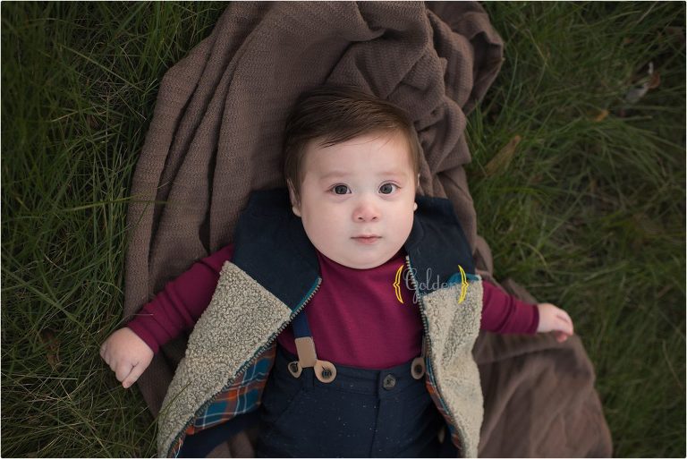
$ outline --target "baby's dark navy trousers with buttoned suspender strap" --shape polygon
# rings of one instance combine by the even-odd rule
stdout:
[[[277,344],[258,457],[455,457],[450,439],[439,441],[445,421],[425,387],[424,348],[412,361],[365,370],[318,360],[304,313],[293,334],[297,356]]]

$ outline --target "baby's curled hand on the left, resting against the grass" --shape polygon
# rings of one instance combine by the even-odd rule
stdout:
[[[125,389],[131,387],[148,368],[153,355],[148,344],[127,327],[115,331],[100,346],[100,357],[114,371],[117,380],[122,381]]]

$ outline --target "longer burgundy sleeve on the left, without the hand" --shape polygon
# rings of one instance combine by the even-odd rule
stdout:
[[[126,326],[157,353],[160,346],[195,325],[212,300],[222,266],[232,255],[233,244],[229,244],[194,263],[169,281]]]

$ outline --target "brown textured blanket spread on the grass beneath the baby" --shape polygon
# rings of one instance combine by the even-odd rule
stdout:
[[[463,131],[502,55],[475,3],[228,4],[160,85],[131,191],[125,317],[232,242],[250,191],[284,186],[285,117],[301,91],[325,81],[358,85],[411,114],[424,149],[419,192],[454,203],[479,274],[493,281],[463,168],[471,160]],[[533,301],[524,290],[512,293]],[[184,348],[185,338],[165,345],[139,379],[155,414]],[[486,405],[480,455],[611,454],[579,337],[557,344],[551,336],[484,334],[474,354]],[[214,454],[252,455],[255,434]]]

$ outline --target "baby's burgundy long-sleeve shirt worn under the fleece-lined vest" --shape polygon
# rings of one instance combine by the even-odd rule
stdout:
[[[190,330],[208,307],[222,265],[231,260],[233,244],[225,246],[165,285],[132,319],[130,327],[157,353],[160,346]],[[396,272],[405,269],[401,249],[383,265],[348,268],[318,251],[322,283],[304,312],[318,359],[365,369],[384,369],[420,355],[422,319],[410,285],[394,288]],[[404,273],[404,271],[403,271]],[[405,276],[402,276],[404,279]],[[536,305],[482,282],[481,328],[496,333],[533,334],[539,325]],[[295,354],[291,327],[277,336]]]

